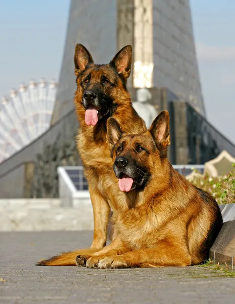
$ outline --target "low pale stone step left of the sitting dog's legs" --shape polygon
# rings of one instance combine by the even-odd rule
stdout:
[[[59,201],[59,200],[58,200]],[[0,231],[92,230],[91,204],[58,207],[58,202],[0,204]]]

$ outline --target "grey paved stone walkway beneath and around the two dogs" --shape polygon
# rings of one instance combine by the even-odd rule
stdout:
[[[235,303],[235,278],[208,267],[98,270],[36,267],[87,247],[91,232],[0,233],[0,303]]]

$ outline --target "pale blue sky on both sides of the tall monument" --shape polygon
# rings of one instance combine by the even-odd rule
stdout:
[[[69,3],[1,1],[0,97],[30,79],[58,80]],[[235,143],[235,1],[191,0],[191,9],[207,117]]]

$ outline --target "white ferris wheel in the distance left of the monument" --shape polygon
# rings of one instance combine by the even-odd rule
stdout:
[[[50,128],[57,83],[41,79],[11,90],[0,102],[0,163]]]

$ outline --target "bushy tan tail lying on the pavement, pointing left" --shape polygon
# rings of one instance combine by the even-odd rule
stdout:
[[[75,266],[77,255],[90,255],[98,250],[96,249],[78,249],[70,252],[63,252],[60,255],[52,256],[49,259],[41,260],[36,263],[38,266]]]

